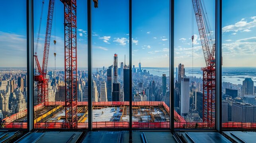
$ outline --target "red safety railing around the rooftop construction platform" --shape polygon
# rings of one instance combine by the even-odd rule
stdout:
[[[46,102],[44,106],[64,106],[65,102]],[[87,106],[88,102],[78,102],[78,106]],[[133,106],[164,106],[165,110],[170,114],[170,108],[162,101],[143,101],[132,102]],[[44,107],[42,104],[34,106],[34,111]],[[93,106],[129,106],[129,102],[93,102]],[[26,120],[15,122],[16,120],[27,116],[27,109],[22,110],[16,114],[4,118],[5,122],[1,123],[0,128],[27,128]],[[215,124],[207,124],[205,122],[186,122],[186,120],[174,111],[174,128],[194,128],[194,129],[209,129],[215,128]],[[77,128],[88,128],[87,120],[85,122],[77,123]],[[37,129],[63,129],[67,125],[65,122],[37,122],[34,128]],[[92,122],[93,128],[129,128],[129,122]],[[224,122],[223,128],[233,129],[256,129],[256,123],[251,122]],[[170,128],[170,122],[132,122],[132,128]]]

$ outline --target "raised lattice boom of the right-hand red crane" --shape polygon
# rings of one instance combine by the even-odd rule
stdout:
[[[209,57],[210,57],[210,48],[209,48],[209,44],[208,44],[208,40],[207,40],[207,35],[205,32],[205,25],[203,23],[203,17],[202,17],[199,0],[192,0],[192,4],[193,4],[194,11],[195,11],[195,18],[196,18],[199,36],[200,36],[201,44],[202,44],[202,48],[203,48],[205,64],[206,64],[206,66],[208,66]]]

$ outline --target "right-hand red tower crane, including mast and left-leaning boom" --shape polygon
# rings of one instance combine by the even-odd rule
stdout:
[[[203,71],[203,122],[206,122],[209,127],[215,124],[215,40],[211,34],[207,13],[203,10],[203,1],[192,0],[192,4],[206,64],[201,68]],[[209,45],[212,46],[211,49]]]

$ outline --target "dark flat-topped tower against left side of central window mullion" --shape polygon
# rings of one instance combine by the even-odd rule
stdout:
[[[123,69],[123,95],[124,101],[129,101],[129,90],[130,90],[130,81],[129,81],[129,69]]]

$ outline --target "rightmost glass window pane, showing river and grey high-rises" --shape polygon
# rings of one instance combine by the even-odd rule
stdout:
[[[222,6],[222,127],[252,129],[256,126],[256,3],[224,0]]]

